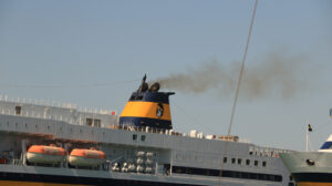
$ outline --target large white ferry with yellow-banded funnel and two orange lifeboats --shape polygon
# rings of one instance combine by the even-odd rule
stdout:
[[[294,185],[287,149],[175,132],[159,89],[145,76],[121,114],[0,96],[0,185]]]

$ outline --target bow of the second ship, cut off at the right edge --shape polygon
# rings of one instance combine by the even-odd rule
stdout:
[[[280,157],[298,186],[332,186],[332,134],[318,152],[287,152]]]

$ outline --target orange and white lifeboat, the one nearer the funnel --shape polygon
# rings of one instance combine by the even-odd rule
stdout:
[[[95,148],[74,148],[69,156],[69,163],[72,166],[97,167],[105,158],[105,153]]]

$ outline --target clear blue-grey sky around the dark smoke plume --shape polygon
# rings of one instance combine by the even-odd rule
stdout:
[[[242,59],[253,4],[0,0],[0,94],[121,113],[145,73],[152,81],[190,75],[215,61],[237,78],[239,68],[234,64]],[[257,145],[304,151],[309,121],[317,151],[332,132],[332,2],[260,0],[243,87],[250,74],[270,73],[259,66],[272,63],[271,53],[294,74],[290,86],[295,91],[283,97],[274,80],[263,86],[269,91],[262,96],[248,97],[240,90],[231,135]],[[221,85],[224,81],[218,79]],[[227,93],[162,87],[176,92],[170,97],[174,130],[226,135],[235,86],[226,87]]]

